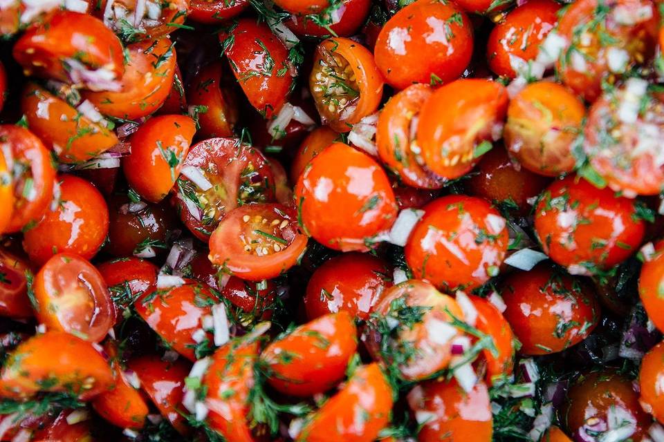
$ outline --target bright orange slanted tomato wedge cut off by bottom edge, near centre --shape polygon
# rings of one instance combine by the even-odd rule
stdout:
[[[392,389],[378,364],[358,367],[346,385],[304,425],[296,442],[371,442],[389,422]],[[356,419],[362,410],[366,419]]]

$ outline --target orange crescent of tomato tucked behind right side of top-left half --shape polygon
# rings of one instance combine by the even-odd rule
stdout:
[[[138,119],[154,113],[165,102],[173,84],[176,57],[166,37],[127,46],[128,61],[116,91],[86,92],[103,115]]]

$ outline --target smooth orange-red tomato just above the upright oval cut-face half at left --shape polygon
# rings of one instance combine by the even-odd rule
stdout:
[[[24,233],[23,247],[36,265],[60,252],[89,260],[109,232],[109,209],[95,186],[74,175],[58,175],[56,181],[60,204]]]

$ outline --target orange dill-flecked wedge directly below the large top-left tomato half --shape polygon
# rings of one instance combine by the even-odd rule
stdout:
[[[35,83],[28,84],[21,99],[21,111],[26,115],[30,131],[55,152],[59,162],[87,161],[119,142],[109,128],[93,122]]]

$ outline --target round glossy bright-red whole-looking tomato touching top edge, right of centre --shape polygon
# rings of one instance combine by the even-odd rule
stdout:
[[[445,22],[451,38],[445,34]],[[448,83],[461,77],[470,63],[472,46],[472,25],[464,12],[452,4],[418,0],[380,30],[376,64],[387,84],[396,89],[413,83]]]

